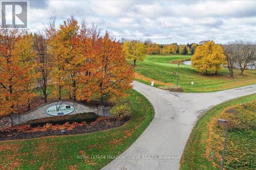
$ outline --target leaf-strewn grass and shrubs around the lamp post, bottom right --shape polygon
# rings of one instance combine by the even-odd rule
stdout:
[[[219,117],[229,120],[225,168],[255,169],[255,101],[256,94],[243,96],[215,106],[200,117],[187,141],[180,169],[220,169],[225,127],[217,123]],[[236,110],[227,112],[230,108]]]

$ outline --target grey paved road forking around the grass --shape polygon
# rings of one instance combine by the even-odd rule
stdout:
[[[179,156],[197,118],[211,107],[256,92],[256,85],[211,93],[178,93],[134,82],[155,108],[155,118],[122,156]],[[115,159],[103,169],[179,169],[180,159]]]

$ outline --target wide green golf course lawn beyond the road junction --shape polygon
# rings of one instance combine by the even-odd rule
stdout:
[[[164,83],[177,84],[178,64],[173,62],[184,61],[191,55],[147,55],[144,61],[136,62],[135,71],[153,80]],[[129,61],[133,64],[133,61]],[[190,65],[180,64],[179,85],[183,87],[185,92],[211,92],[225,90],[235,87],[256,83],[256,70],[245,70],[244,75],[239,75],[239,70],[234,70],[234,78],[230,78],[227,68],[223,68],[217,75],[203,75],[196,72]],[[145,84],[151,84],[143,79],[135,79]],[[191,82],[194,82],[193,90],[191,90]],[[160,86],[156,84],[156,86]]]

